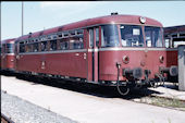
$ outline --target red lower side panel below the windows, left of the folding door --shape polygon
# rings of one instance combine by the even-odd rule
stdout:
[[[87,67],[86,59],[84,59],[84,53],[85,52],[21,54],[16,63],[17,71],[86,78]]]

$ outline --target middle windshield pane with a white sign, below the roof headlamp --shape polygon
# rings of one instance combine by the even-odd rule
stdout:
[[[123,47],[144,47],[141,26],[120,25],[120,32]]]

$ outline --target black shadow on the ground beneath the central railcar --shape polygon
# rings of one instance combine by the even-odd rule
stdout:
[[[89,83],[72,82],[59,78],[38,77],[34,75],[24,74],[16,75],[16,78],[32,82],[32,85],[41,84],[102,98],[123,98],[130,100],[134,98],[147,97],[150,96],[151,94],[159,94],[158,91],[153,91],[148,88],[143,88],[132,89],[128,95],[121,96],[118,93],[116,87],[100,86]]]

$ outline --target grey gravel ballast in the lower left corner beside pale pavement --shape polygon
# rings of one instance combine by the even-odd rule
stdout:
[[[77,123],[2,90],[1,113],[15,123]]]

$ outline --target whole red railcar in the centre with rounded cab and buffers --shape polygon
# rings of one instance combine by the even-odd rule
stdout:
[[[162,24],[138,15],[89,19],[16,39],[18,73],[109,86],[146,85],[166,67]]]

